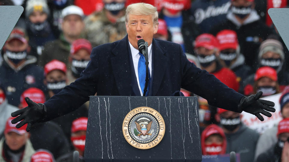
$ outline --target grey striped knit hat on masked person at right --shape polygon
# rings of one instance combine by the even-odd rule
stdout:
[[[262,55],[268,51],[278,53],[282,60],[284,60],[283,45],[280,41],[275,39],[266,39],[260,45],[258,58],[261,59]]]

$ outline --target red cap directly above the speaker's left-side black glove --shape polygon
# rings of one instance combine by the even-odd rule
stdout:
[[[29,97],[33,102],[44,103],[45,95],[41,89],[38,88],[28,88],[20,96],[20,103],[22,104],[21,108],[27,107],[28,104],[25,101],[25,98]]]

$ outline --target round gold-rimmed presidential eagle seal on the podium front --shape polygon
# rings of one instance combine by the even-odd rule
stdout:
[[[138,107],[123,120],[123,136],[138,149],[150,149],[163,139],[165,123],[159,112],[150,107]]]

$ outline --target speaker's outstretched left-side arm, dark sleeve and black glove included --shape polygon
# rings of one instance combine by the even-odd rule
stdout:
[[[36,122],[45,122],[58,116],[70,113],[89,100],[89,96],[95,95],[98,83],[98,57],[97,49],[92,50],[91,61],[83,70],[80,78],[67,85],[61,92],[52,96],[44,104],[36,104],[29,98],[25,98],[28,107],[11,113],[18,116],[12,123],[22,120],[16,127],[20,128],[28,123],[26,131],[30,131],[31,125]]]

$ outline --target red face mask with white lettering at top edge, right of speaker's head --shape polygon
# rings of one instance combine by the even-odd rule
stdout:
[[[187,1],[166,0],[163,3],[163,7],[171,14],[176,14],[185,8]]]

